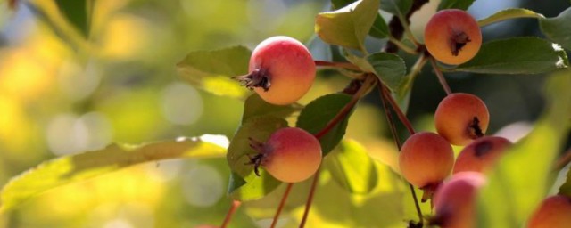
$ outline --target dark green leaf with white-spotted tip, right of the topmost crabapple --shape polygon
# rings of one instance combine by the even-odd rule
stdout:
[[[482,45],[474,59],[455,70],[484,74],[538,74],[567,68],[559,45],[538,37],[514,37]]]

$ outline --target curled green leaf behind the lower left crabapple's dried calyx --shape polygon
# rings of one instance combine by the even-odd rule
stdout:
[[[250,148],[250,139],[266,142],[269,135],[277,129],[287,126],[283,118],[261,116],[248,118],[240,126],[228,146],[228,165],[232,170],[232,178],[228,194],[233,199],[242,201],[261,199],[277,188],[281,183],[260,168],[260,176],[253,173],[253,165],[248,165],[248,155],[256,155],[258,151]]]

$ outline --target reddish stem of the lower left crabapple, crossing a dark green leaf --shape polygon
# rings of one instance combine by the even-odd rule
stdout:
[[[343,110],[340,110],[337,113],[337,115],[335,115],[335,118],[331,119],[331,121],[329,121],[329,123],[327,123],[327,126],[323,127],[323,129],[321,129],[321,131],[319,131],[319,133],[314,134],[314,136],[317,139],[320,139],[321,137],[323,137],[323,135],[327,134],[334,126],[336,126],[341,120],[343,120],[343,118],[345,118],[345,116],[347,116],[347,113],[349,113],[349,111],[352,110],[352,108],[355,106],[355,104],[357,102],[359,102],[359,99],[363,95],[367,94],[368,90],[373,85],[375,85],[375,83],[377,83],[377,77],[373,74],[367,74],[367,77],[365,77],[365,81],[360,86],[360,89],[357,91],[357,93],[353,94],[351,101],[349,101],[343,107]]]

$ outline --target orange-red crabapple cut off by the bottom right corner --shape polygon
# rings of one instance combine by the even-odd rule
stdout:
[[[528,228],[565,228],[571,226],[571,198],[563,195],[544,199],[529,218]]]

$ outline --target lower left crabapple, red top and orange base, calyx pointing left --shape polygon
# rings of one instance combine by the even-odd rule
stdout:
[[[267,142],[250,139],[253,150],[260,152],[251,159],[254,172],[264,167],[269,175],[286,183],[304,181],[315,174],[321,164],[321,145],[315,136],[297,127],[278,129]]]

